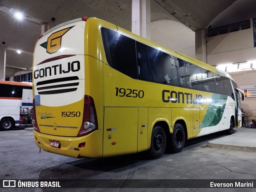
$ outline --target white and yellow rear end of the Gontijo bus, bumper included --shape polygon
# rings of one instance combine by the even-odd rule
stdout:
[[[43,34],[33,61],[35,142],[45,151],[76,158],[102,156],[94,100],[85,95],[86,19]]]

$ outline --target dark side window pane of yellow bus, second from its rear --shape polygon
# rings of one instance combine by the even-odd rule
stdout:
[[[162,51],[136,42],[138,79],[164,83]]]

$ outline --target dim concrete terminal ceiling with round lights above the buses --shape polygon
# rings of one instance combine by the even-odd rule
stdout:
[[[255,0],[150,2],[151,22],[178,19],[194,32],[256,18]],[[23,13],[24,19],[14,18],[15,11]],[[41,34],[42,23],[56,26],[82,16],[104,19],[131,31],[132,1],[0,0],[0,45],[6,47],[6,77],[13,76],[21,69],[31,69],[32,53]],[[18,49],[21,54],[16,53]]]

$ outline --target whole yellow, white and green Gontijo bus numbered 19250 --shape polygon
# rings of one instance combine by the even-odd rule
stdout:
[[[106,157],[241,126],[240,95],[222,71],[114,24],[80,18],[36,43],[34,139],[45,151]]]

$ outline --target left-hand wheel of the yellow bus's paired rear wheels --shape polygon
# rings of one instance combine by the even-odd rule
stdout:
[[[150,144],[150,156],[154,159],[160,158],[166,148],[166,135],[164,129],[160,126],[153,128],[151,135],[151,144]]]

